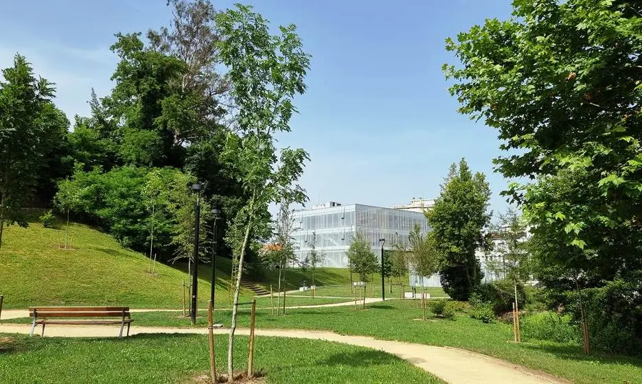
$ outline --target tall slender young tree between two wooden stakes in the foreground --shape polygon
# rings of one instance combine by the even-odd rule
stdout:
[[[261,226],[258,213],[272,202],[303,203],[306,194],[296,182],[309,159],[303,149],[275,148],[275,134],[289,132],[297,112],[292,99],[303,93],[310,57],[301,49],[295,25],[270,34],[268,21],[252,8],[236,5],[216,16],[221,41],[221,63],[229,70],[236,106],[238,136],[228,135],[222,158],[232,167],[249,196],[232,221],[229,241],[235,250],[236,287],[228,345],[228,381],[233,381],[233,350],[237,304],[247,247]]]

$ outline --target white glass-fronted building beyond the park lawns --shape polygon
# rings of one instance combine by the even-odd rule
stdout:
[[[357,232],[365,235],[379,258],[379,239],[386,239],[384,249],[389,250],[395,238],[407,245],[408,235],[415,224],[421,226],[422,232],[428,230],[428,221],[422,212],[362,204],[328,202],[312,209],[295,211],[293,218],[297,258],[305,259],[314,244],[319,252],[325,254],[323,267],[349,266],[346,252]]]

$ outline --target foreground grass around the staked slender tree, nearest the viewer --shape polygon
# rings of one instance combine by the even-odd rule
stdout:
[[[15,338],[12,350],[0,348],[3,383],[193,383],[209,370],[204,335],[2,337]],[[243,370],[248,337],[236,340]],[[227,367],[227,335],[216,336],[216,361],[219,372]],[[319,340],[257,337],[254,366],[268,383],[444,383],[385,352]]]

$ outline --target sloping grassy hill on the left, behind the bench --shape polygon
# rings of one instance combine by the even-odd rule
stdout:
[[[5,228],[0,249],[0,294],[5,296],[4,308],[23,309],[30,305],[183,307],[183,282],[187,283],[188,279],[186,263],[171,266],[157,263],[156,273],[150,274],[147,272],[149,259],[144,254],[126,250],[110,236],[82,224],[70,226],[73,250],[61,250],[65,231],[43,228],[36,217],[34,214],[29,228]],[[216,306],[229,307],[227,287],[231,261],[217,258],[216,263]],[[198,275],[198,301],[203,308],[209,299],[211,269],[200,265]],[[300,269],[288,269],[286,276],[287,289],[299,287],[302,280],[310,281]],[[257,284],[267,290],[273,285],[276,291],[276,281],[275,271],[267,271]],[[347,269],[318,269],[317,281],[318,285],[347,285],[349,274]],[[242,301],[249,301],[253,292],[242,289],[241,295]],[[296,300],[288,303],[296,304],[304,303]]]

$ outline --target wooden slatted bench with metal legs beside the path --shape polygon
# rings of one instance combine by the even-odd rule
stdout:
[[[29,316],[34,318],[29,335],[34,334],[36,325],[43,326],[45,335],[45,324],[120,324],[118,337],[123,337],[123,329],[127,324],[127,336],[129,326],[133,322],[129,307],[29,307]],[[52,318],[53,317],[53,318]],[[118,319],[93,318],[62,320],[60,317],[119,317]]]

